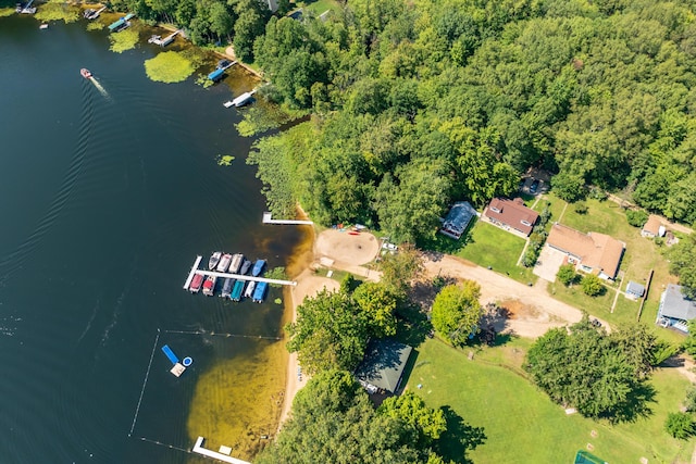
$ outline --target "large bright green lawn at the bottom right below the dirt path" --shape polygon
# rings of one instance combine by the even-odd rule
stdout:
[[[588,443],[594,454],[612,464],[638,463],[641,457],[650,463],[688,462],[695,440],[682,443],[662,429],[667,414],[679,410],[688,385],[679,373],[655,373],[651,384],[657,393],[649,416],[612,426],[579,414],[566,415],[530,384],[520,367],[529,343],[513,339],[484,348],[469,360],[469,350],[426,340],[418,348],[407,388],[428,405],[449,406],[469,426],[483,427],[484,443],[468,455],[477,464],[569,463]],[[456,455],[460,451],[456,443],[446,450],[451,454],[446,457],[463,462]]]

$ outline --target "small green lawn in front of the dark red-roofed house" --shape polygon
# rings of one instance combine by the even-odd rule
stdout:
[[[499,227],[477,221],[470,229],[465,246],[453,254],[483,267],[506,274],[521,283],[536,281],[531,268],[518,266],[524,239]]]

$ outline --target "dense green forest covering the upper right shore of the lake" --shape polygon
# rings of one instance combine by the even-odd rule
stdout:
[[[687,1],[350,0],[321,18],[261,0],[119,0],[232,42],[265,98],[310,122],[256,143],[270,208],[432,236],[456,200],[530,167],[568,201],[621,192],[696,221],[696,23]]]

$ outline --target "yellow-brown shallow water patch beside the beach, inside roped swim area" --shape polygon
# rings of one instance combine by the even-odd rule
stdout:
[[[247,354],[248,353],[248,354]],[[273,436],[283,407],[288,353],[284,341],[260,340],[250,358],[220,360],[196,384],[187,421],[191,442],[206,437],[207,447],[232,447],[245,461]]]

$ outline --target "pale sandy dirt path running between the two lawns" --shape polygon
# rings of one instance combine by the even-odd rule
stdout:
[[[499,303],[510,311],[506,329],[522,337],[536,338],[551,327],[582,318],[580,310],[551,298],[543,285],[529,287],[468,261],[437,253],[426,253],[424,265],[430,277],[449,275],[478,283],[481,303]]]

